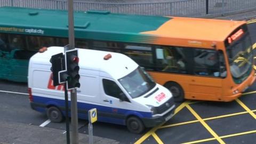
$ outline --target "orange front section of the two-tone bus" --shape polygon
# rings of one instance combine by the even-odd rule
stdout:
[[[244,21],[173,18],[143,34],[158,36],[154,43],[161,46],[155,48],[155,60],[163,69],[149,73],[177,101],[231,101],[255,80]]]

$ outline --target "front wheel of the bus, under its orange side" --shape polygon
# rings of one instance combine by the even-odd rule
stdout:
[[[164,86],[172,93],[175,102],[184,101],[184,91],[178,83],[170,82]]]

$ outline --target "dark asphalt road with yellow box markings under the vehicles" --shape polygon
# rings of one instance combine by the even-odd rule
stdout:
[[[249,30],[256,43],[255,22],[249,24]],[[0,90],[0,120],[66,130],[65,122],[44,123],[46,115],[30,108],[27,83],[0,81]],[[255,93],[256,84],[233,102],[177,103],[176,114],[169,122],[143,134],[132,134],[125,126],[100,122],[93,124],[93,134],[120,143],[253,143],[256,136]],[[80,133],[87,134],[87,124],[79,120]]]

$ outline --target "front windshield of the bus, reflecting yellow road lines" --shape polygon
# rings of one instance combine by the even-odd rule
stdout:
[[[231,75],[235,83],[242,83],[252,70],[252,43],[249,34],[227,49]]]

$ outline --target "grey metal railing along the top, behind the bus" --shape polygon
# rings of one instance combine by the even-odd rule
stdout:
[[[67,0],[0,0],[0,6],[67,10]],[[113,13],[204,17],[256,9],[256,0],[180,0],[151,3],[95,3],[74,0],[75,11],[105,10]]]

